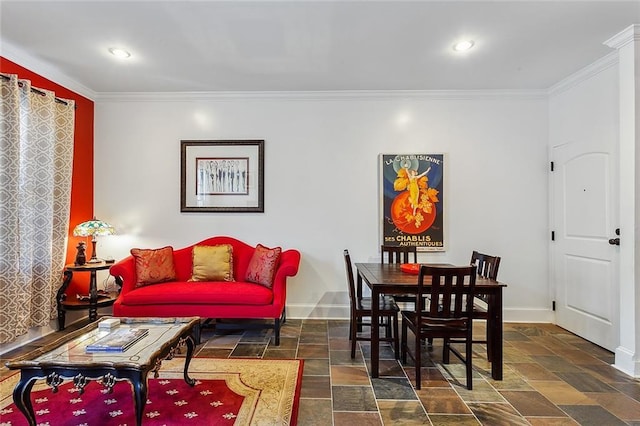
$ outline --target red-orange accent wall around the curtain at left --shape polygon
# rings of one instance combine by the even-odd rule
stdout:
[[[73,228],[93,217],[93,116],[94,103],[59,84],[42,77],[14,62],[0,56],[0,72],[17,74],[19,78],[31,80],[34,87],[52,90],[59,98],[73,99],[76,103],[76,117],[73,144],[73,172],[71,177],[71,213],[69,236],[67,243],[66,263],[73,263],[76,256],[76,245],[83,238],[73,236]],[[87,255],[91,255],[91,244],[88,244]],[[62,274],[62,271],[61,271]],[[87,277],[82,277],[87,275]],[[89,274],[76,274],[67,292],[70,296],[76,292],[86,293]],[[61,275],[62,276],[62,275]],[[82,290],[84,288],[85,290]]]

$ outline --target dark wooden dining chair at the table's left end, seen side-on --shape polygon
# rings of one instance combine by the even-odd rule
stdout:
[[[359,335],[358,330],[362,326],[371,327],[372,303],[379,303],[380,324],[385,329],[384,337],[380,341],[392,342],[396,359],[400,358],[400,342],[398,333],[398,313],[400,309],[396,302],[390,296],[382,296],[379,300],[373,301],[370,297],[358,298],[356,295],[356,286],[353,278],[353,267],[351,265],[351,256],[349,250],[344,251],[344,264],[347,272],[347,284],[349,285],[349,302],[350,302],[350,320],[349,320],[349,340],[351,341],[351,358],[356,356],[356,341],[371,341],[371,337]]]

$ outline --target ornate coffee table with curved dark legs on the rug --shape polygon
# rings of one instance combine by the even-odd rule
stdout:
[[[10,369],[20,370],[20,381],[13,390],[13,401],[29,425],[36,424],[30,394],[38,379],[45,379],[53,392],[58,391],[64,379],[73,379],[81,394],[91,380],[100,380],[109,391],[117,381],[128,380],[133,386],[137,425],[142,424],[142,413],[147,403],[149,372],[154,372],[157,377],[162,360],[172,358],[183,345],[187,346],[184,380],[190,386],[195,384],[187,371],[200,337],[200,318],[119,319],[121,325],[118,328],[146,328],[149,334],[124,352],[86,353],[88,344],[108,333],[100,331],[98,322],[94,322],[6,363]]]

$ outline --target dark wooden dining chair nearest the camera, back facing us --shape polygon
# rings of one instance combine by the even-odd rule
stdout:
[[[425,283],[425,281],[427,281]],[[465,283],[466,281],[466,283]],[[407,354],[415,363],[416,389],[421,387],[422,350],[425,339],[443,339],[442,362],[448,364],[450,353],[464,362],[467,372],[467,389],[473,389],[472,342],[473,342],[473,296],[475,294],[476,268],[474,266],[427,266],[420,267],[418,274],[415,310],[402,310],[402,334],[400,351],[402,363]],[[424,306],[424,298],[431,303]],[[434,303],[434,301],[438,303]],[[415,340],[408,345],[408,330]],[[452,343],[464,343],[464,355]]]

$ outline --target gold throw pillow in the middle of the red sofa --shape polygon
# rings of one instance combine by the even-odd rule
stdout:
[[[234,281],[233,246],[194,246],[189,281]]]

